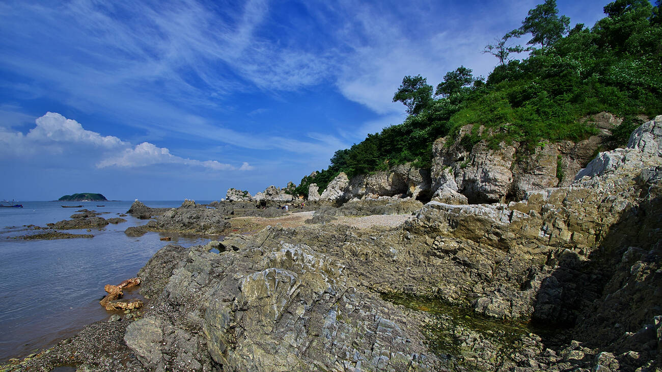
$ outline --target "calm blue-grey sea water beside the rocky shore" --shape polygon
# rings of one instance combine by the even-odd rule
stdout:
[[[17,202],[23,208],[0,208],[0,362],[25,356],[52,346],[62,338],[112,313],[99,305],[103,286],[117,285],[135,277],[148,259],[168,243],[181,246],[206,244],[209,239],[148,232],[140,238],[124,234],[129,226],[146,224],[132,216],[127,222],[105,228],[60,230],[71,234],[93,234],[94,238],[21,240],[11,236],[40,233],[23,225],[46,226],[48,222],[70,219],[80,209],[109,212],[117,217],[131,201],[105,202]],[[148,207],[179,207],[181,201],[146,201]],[[197,201],[197,203],[209,203]],[[105,207],[97,207],[105,205]],[[162,242],[160,236],[171,236]]]

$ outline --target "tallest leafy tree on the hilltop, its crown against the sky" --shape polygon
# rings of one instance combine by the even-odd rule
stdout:
[[[532,34],[534,37],[526,44],[540,44],[544,48],[549,46],[570,30],[570,19],[565,15],[559,17],[556,0],[545,0],[544,4],[531,9],[528,16],[522,21],[522,26],[512,30],[514,36]]]

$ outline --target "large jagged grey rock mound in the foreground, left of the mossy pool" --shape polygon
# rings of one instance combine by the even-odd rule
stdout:
[[[357,291],[338,261],[304,245],[208,250],[189,250],[154,308],[128,326],[126,345],[145,367],[439,370],[412,327],[422,320]]]

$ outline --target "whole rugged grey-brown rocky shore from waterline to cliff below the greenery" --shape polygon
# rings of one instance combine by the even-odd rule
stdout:
[[[299,204],[292,185],[230,189],[207,206],[136,201],[129,214],[150,220],[126,234],[225,238],[165,246],[138,273],[149,299],[138,315],[3,368],[662,369],[662,115],[626,148],[599,152],[604,138],[589,138],[526,162],[513,162],[517,144],[448,140],[435,143],[429,171],[341,173],[321,194],[311,185],[315,212],[291,227],[232,234],[237,219],[289,216],[275,206]],[[81,214],[71,217],[101,218]],[[368,214],[407,217],[394,227],[336,221]]]

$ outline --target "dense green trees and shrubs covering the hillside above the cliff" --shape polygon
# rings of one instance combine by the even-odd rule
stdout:
[[[338,150],[328,169],[301,180],[326,189],[340,171],[349,177],[414,162],[427,167],[436,138],[474,126],[463,145],[479,140],[494,147],[514,141],[533,150],[543,141],[581,140],[596,132],[581,120],[602,111],[626,118],[614,140],[627,140],[636,115],[662,113],[662,0],[616,0],[592,28],[559,16],[555,0],[531,9],[516,28],[485,46],[498,62],[487,79],[460,66],[436,86],[426,77],[405,76],[393,97],[406,106],[402,124],[369,134],[349,149]],[[531,36],[526,47],[515,40]],[[528,58],[513,59],[528,51]],[[487,128],[481,133],[479,126]]]

